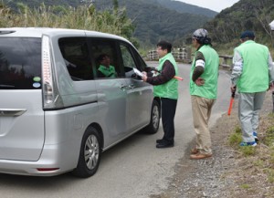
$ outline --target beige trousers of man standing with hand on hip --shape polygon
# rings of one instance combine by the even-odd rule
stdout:
[[[193,122],[196,133],[196,149],[203,154],[212,154],[208,122],[215,100],[191,96]]]

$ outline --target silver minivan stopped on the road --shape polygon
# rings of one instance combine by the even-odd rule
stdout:
[[[113,78],[100,77],[107,54]],[[159,128],[160,100],[132,44],[100,32],[0,28],[0,172],[93,175],[102,151]]]

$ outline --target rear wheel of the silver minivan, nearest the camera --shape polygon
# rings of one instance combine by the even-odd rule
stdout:
[[[88,128],[84,133],[79,152],[77,168],[72,172],[74,175],[87,178],[95,174],[100,164],[101,141],[98,130]]]

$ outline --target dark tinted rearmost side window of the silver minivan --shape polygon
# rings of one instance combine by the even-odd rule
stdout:
[[[85,37],[60,38],[58,45],[72,80],[93,79],[89,48]]]

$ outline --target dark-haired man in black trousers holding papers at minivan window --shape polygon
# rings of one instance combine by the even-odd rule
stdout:
[[[155,97],[162,103],[163,139],[156,141],[156,148],[174,146],[174,116],[178,99],[178,68],[171,53],[172,45],[166,41],[157,44],[160,57],[157,72],[143,72],[142,80],[152,84]]]

